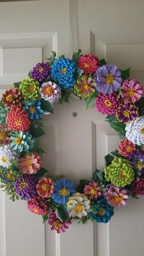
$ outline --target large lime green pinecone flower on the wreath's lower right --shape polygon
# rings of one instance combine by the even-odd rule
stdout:
[[[114,158],[112,164],[105,169],[107,181],[111,181],[114,186],[124,187],[130,185],[134,180],[134,170],[127,159]]]

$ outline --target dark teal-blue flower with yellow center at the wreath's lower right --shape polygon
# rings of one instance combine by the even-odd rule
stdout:
[[[106,199],[99,199],[90,211],[90,217],[97,222],[107,223],[113,216],[113,207],[107,204]]]

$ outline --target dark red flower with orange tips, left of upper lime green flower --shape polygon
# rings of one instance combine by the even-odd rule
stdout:
[[[7,89],[4,94],[2,94],[2,102],[7,106],[7,108],[20,107],[23,101],[23,95],[18,88]]]

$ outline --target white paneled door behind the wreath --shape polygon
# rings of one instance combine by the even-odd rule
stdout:
[[[26,77],[51,51],[71,56],[75,48],[94,53],[144,82],[144,5],[139,0],[40,0],[0,3],[0,90]],[[73,117],[76,112],[77,116]],[[104,167],[118,136],[95,108],[71,98],[46,115],[41,144],[50,174],[75,183]],[[144,198],[116,209],[108,224],[73,221],[57,235],[29,213],[26,203],[0,194],[1,256],[143,256]]]

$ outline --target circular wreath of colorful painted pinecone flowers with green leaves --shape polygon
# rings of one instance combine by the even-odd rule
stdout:
[[[107,223],[114,207],[130,196],[144,194],[144,98],[142,85],[129,70],[74,51],[71,59],[56,57],[38,63],[26,79],[14,83],[0,103],[0,180],[10,199],[26,200],[27,208],[65,232],[72,219]],[[55,103],[68,102],[71,93],[95,105],[121,137],[117,150],[105,156],[106,167],[79,185],[65,177],[49,176],[42,167],[44,153],[37,138],[40,120]]]

